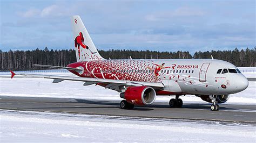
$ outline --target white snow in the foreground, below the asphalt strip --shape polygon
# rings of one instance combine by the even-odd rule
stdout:
[[[0,110],[0,142],[255,142],[253,125]]]

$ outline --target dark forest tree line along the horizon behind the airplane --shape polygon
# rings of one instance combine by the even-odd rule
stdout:
[[[157,52],[157,51],[137,51],[137,50],[119,50],[111,49],[109,51],[99,50],[99,54],[105,59],[210,59],[211,55],[214,59],[224,60],[237,67],[254,67],[256,65],[256,47],[250,49],[235,48],[233,51],[206,51],[196,52],[191,55],[188,51],[177,52]],[[66,66],[69,63],[76,62],[75,49],[49,50],[45,47],[32,51],[8,51],[2,52],[0,49],[0,71],[11,70],[37,70],[45,69],[42,67],[32,66],[39,65],[55,65]]]

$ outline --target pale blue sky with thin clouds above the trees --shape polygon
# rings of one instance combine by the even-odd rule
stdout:
[[[79,15],[98,49],[196,51],[256,46],[255,1],[0,0],[2,51],[74,47]]]

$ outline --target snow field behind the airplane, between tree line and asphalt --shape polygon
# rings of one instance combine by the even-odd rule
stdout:
[[[33,73],[35,74],[35,73]],[[72,76],[72,73],[36,73],[50,75]],[[1,76],[10,76],[10,73],[0,73]],[[255,73],[253,75],[256,75]],[[103,99],[120,101],[119,93],[105,89],[100,86],[89,85],[84,87],[83,82],[63,81],[52,83],[51,79],[45,78],[8,78],[0,77],[0,96],[19,96],[19,97],[55,97],[55,98],[79,98],[79,99]],[[224,104],[256,104],[256,82],[249,82],[246,90],[233,94]],[[158,102],[169,102],[169,96],[157,96]],[[184,102],[206,103],[201,98],[186,95],[181,96]]]

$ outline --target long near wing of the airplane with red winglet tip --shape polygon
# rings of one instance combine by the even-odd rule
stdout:
[[[103,78],[90,78],[90,77],[79,77],[79,76],[58,76],[58,75],[39,75],[39,74],[15,74],[11,71],[11,78],[15,75],[22,75],[28,77],[42,77],[42,78],[51,78],[53,79],[52,83],[62,82],[64,80],[68,81],[81,81],[85,82],[84,85],[91,85],[91,84],[105,84],[105,88],[121,91],[121,89],[129,86],[149,86],[154,89],[161,89],[164,88],[164,84],[161,82],[138,82],[138,81],[125,81],[125,80],[110,80],[110,79],[103,79]]]

